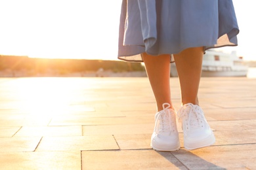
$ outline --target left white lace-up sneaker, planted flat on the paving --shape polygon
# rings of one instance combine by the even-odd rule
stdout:
[[[154,150],[174,151],[180,148],[176,112],[170,107],[169,103],[163,103],[163,110],[156,113],[155,127],[150,144]]]

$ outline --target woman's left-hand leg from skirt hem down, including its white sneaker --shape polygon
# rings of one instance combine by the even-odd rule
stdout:
[[[176,112],[171,103],[170,55],[156,57],[144,53],[142,57],[158,107],[150,146],[160,151],[179,150]]]

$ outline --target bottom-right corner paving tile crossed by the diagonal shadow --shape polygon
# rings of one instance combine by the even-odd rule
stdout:
[[[171,152],[188,169],[256,169],[256,144],[211,146]]]

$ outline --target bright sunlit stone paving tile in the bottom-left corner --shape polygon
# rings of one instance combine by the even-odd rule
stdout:
[[[0,152],[0,169],[81,169],[81,152]]]

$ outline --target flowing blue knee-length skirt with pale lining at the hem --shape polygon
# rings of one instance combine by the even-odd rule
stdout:
[[[123,0],[118,58],[143,61],[143,52],[236,46],[238,33],[232,0]]]

